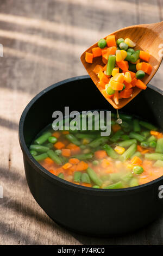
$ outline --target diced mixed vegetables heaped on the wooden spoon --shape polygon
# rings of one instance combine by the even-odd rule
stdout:
[[[106,99],[114,100],[116,105],[119,99],[132,97],[134,87],[147,88],[142,79],[152,72],[152,65],[148,63],[150,54],[135,51],[135,46],[129,38],[116,40],[115,35],[109,35],[106,40],[100,39],[98,47],[92,48],[92,52],[85,53],[87,63],[93,63],[93,58],[102,57],[105,65],[96,65],[93,69],[99,78],[97,87]]]

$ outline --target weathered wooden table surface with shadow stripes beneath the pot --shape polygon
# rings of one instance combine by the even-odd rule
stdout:
[[[21,113],[35,94],[86,74],[80,54],[88,46],[122,27],[162,21],[162,15],[163,0],[1,1],[1,245],[162,244],[163,216],[134,234],[110,239],[85,237],[55,224],[29,192],[17,132]],[[162,71],[163,65],[151,82],[160,88]]]

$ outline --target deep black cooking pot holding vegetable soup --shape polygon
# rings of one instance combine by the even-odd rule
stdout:
[[[123,108],[163,129],[163,92],[151,85]],[[64,227],[93,236],[127,233],[146,225],[162,213],[159,186],[163,176],[147,184],[122,190],[102,190],[72,184],[49,173],[30,155],[28,147],[55,110],[64,113],[90,109],[113,110],[89,76],[53,84],[37,94],[24,109],[19,126],[28,186],[41,208]]]

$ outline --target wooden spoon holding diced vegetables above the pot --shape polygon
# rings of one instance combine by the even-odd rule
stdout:
[[[162,61],[161,44],[163,43],[163,21],[158,23],[135,25],[122,28],[114,33],[111,33],[110,35],[115,35],[116,40],[118,38],[130,38],[136,43],[134,50],[148,51],[151,54],[149,64],[153,66],[152,73],[151,75],[146,75],[142,80],[145,84],[148,84],[152,77],[155,75],[155,72],[158,70]],[[85,52],[92,52],[93,47],[98,47],[97,42],[88,48]],[[91,79],[96,84],[96,86],[98,86],[99,78],[92,70],[97,64],[104,66],[102,57],[93,58],[93,63],[90,64],[85,62],[85,52],[82,54],[80,59],[82,60],[82,63]],[[133,89],[133,96],[128,99],[120,99],[118,105],[116,105],[115,101],[112,99],[106,98],[106,100],[108,100],[114,108],[120,109],[129,101],[133,100],[134,97],[140,92],[141,89],[135,87]]]

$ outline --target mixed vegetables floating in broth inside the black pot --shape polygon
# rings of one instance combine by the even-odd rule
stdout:
[[[108,137],[96,130],[54,131],[49,125],[30,145],[30,153],[52,174],[87,187],[133,187],[162,176],[163,134],[130,115],[120,118],[123,122],[117,124],[111,114]]]

